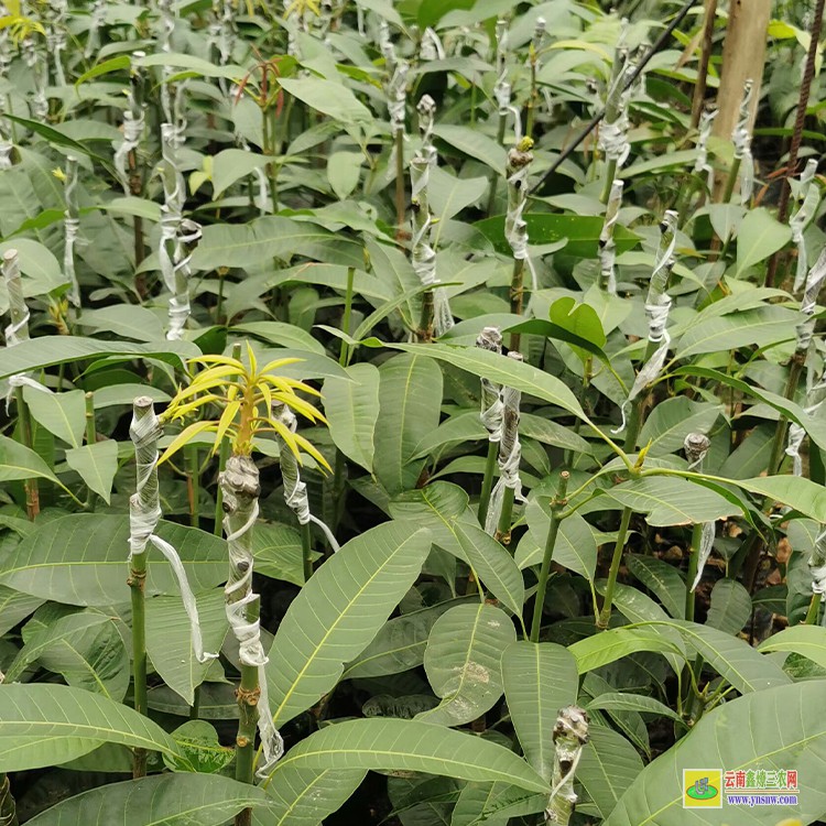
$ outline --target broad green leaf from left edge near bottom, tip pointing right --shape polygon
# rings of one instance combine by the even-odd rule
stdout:
[[[177,754],[175,741],[156,724],[99,694],[65,685],[0,685],[0,772],[56,765],[101,742]],[[72,758],[63,759],[75,749]]]

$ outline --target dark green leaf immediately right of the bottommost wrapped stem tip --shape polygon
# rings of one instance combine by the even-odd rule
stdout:
[[[591,726],[576,767],[600,817],[608,817],[624,791],[642,771],[642,759],[624,737],[604,726]]]

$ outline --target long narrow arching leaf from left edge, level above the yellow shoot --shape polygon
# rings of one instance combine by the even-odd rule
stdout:
[[[53,365],[104,356],[155,358],[183,369],[186,359],[200,356],[200,350],[187,341],[164,341],[163,345],[129,344],[127,341],[99,341],[96,338],[81,336],[41,336],[30,341],[21,341],[3,351],[0,379]]]

